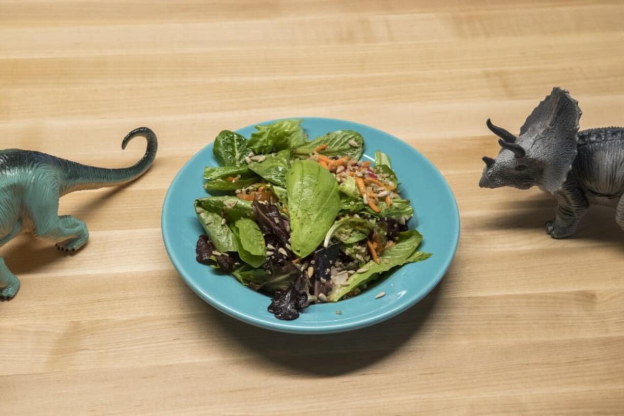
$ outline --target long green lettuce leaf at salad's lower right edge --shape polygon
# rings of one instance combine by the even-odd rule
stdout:
[[[422,235],[416,230],[401,232],[397,244],[379,256],[379,260],[381,260],[379,264],[373,260],[366,263],[362,267],[362,269],[366,269],[366,272],[352,274],[346,280],[345,285],[334,286],[327,299],[336,302],[359,285],[376,279],[382,272],[409,262],[426,260],[431,256],[430,254],[416,254],[416,249],[421,242]]]

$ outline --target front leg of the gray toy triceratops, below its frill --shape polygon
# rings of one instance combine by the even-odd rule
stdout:
[[[561,191],[553,194],[557,199],[555,219],[546,223],[546,232],[555,239],[565,239],[573,235],[578,221],[585,215],[589,202],[585,194],[573,181],[563,184]]]

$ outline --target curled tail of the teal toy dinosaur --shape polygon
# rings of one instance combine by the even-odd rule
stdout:
[[[124,137],[121,148],[125,149],[128,142],[136,136],[144,136],[147,139],[147,149],[143,157],[130,167],[107,169],[104,167],[87,166],[72,161],[59,161],[61,170],[64,173],[64,177],[61,177],[61,194],[64,195],[82,189],[97,189],[124,184],[144,174],[152,165],[152,162],[154,162],[158,141],[152,130],[147,127],[139,127]]]

